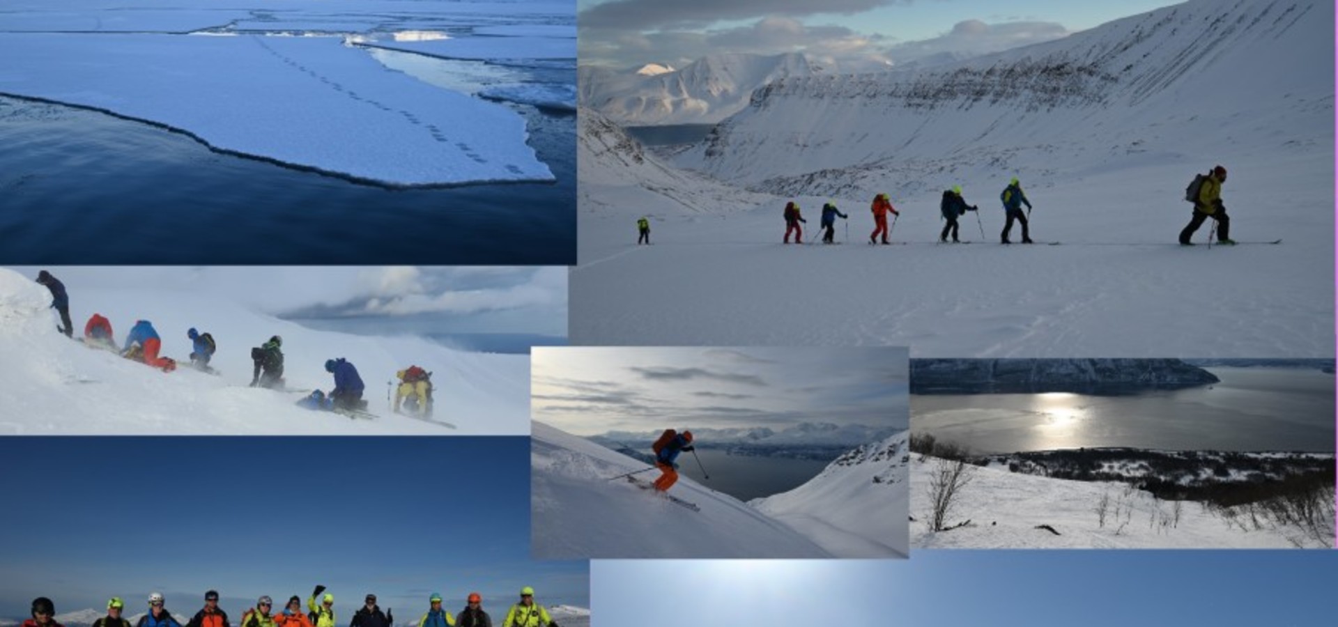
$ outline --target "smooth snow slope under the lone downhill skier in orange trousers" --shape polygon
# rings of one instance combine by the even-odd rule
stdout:
[[[680,476],[669,491],[692,511],[626,480],[646,465],[533,422],[531,551],[542,559],[830,557],[779,520]],[[653,480],[656,471],[641,477]]]

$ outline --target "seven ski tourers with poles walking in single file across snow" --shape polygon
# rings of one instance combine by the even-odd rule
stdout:
[[[1193,217],[1189,223],[1180,231],[1180,243],[1185,246],[1193,246],[1189,238],[1193,235],[1203,222],[1208,218],[1216,221],[1216,238],[1218,243],[1232,245],[1236,243],[1230,238],[1231,221],[1227,218],[1227,209],[1222,205],[1222,183],[1227,180],[1227,168],[1216,166],[1208,174],[1200,174],[1193,178],[1189,187],[1185,190],[1184,199],[1193,203]],[[1032,233],[1029,229],[1028,218],[1032,213],[1032,201],[1026,198],[1022,191],[1022,184],[1018,182],[1017,176],[1009,180],[1008,187],[999,193],[999,201],[1004,205],[1004,231],[999,233],[999,243],[1013,243],[1009,239],[1009,233],[1013,230],[1013,223],[1017,222],[1022,227],[1022,243],[1034,243],[1032,241]],[[1022,205],[1026,205],[1026,211],[1022,211]],[[870,203],[868,210],[874,214],[874,231],[868,234],[868,243],[891,243],[887,237],[890,233],[887,225],[887,214],[892,214],[892,226],[896,225],[896,218],[900,217],[900,211],[892,207],[891,198],[887,193],[879,193],[874,197]],[[947,243],[947,238],[951,235],[954,243],[961,243],[958,239],[958,223],[957,219],[966,215],[967,211],[977,211],[975,205],[967,205],[962,198],[962,186],[953,186],[950,190],[943,191],[943,198],[939,202],[939,214],[945,221],[943,230],[938,234],[938,241],[941,243]],[[781,213],[785,219],[785,237],[781,239],[784,243],[789,243],[789,237],[795,237],[795,243],[804,243],[804,230],[801,223],[808,223],[804,219],[799,203],[788,202],[785,203],[785,210]],[[823,243],[835,243],[835,225],[836,218],[847,219],[848,215],[843,214],[836,205],[831,201],[823,205],[822,226],[823,230]],[[979,214],[977,214],[977,221],[979,221]],[[650,243],[650,222],[642,217],[637,221],[637,229],[640,231],[640,238],[637,243]],[[983,233],[983,226],[982,226]]]

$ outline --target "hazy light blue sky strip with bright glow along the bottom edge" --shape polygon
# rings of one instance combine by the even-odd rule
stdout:
[[[914,551],[910,560],[597,560],[598,624],[1311,627],[1334,551]],[[672,582],[672,588],[666,588]],[[650,612],[646,608],[661,611]]]

